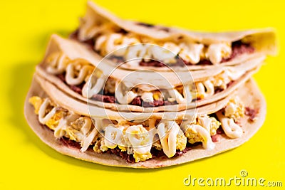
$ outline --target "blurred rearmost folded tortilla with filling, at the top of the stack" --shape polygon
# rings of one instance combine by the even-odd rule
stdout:
[[[78,30],[71,38],[88,44],[100,56],[126,47],[117,51],[114,56],[124,60],[141,58],[130,63],[126,61],[122,67],[128,69],[167,70],[165,65],[180,65],[176,61],[177,56],[184,60],[190,70],[212,69],[217,65],[235,65],[276,53],[276,36],[271,28],[224,33],[185,31],[125,21],[91,1],[88,2],[86,15],[81,19]],[[130,46],[137,43],[144,44],[139,49]],[[172,53],[165,53],[148,44],[162,46]]]

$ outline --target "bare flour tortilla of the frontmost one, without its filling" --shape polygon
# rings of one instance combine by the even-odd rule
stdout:
[[[116,167],[167,167],[175,164],[191,162],[197,159],[202,159],[204,157],[211,157],[214,154],[233,149],[234,147],[238,147],[244,142],[247,142],[247,140],[252,137],[252,135],[256,133],[257,130],[259,130],[259,127],[261,127],[263,124],[266,115],[266,103],[263,95],[261,95],[256,83],[254,83],[252,79],[248,80],[246,83],[244,83],[244,85],[241,86],[241,88],[239,88],[235,95],[237,95],[239,99],[242,100],[245,106],[250,106],[252,109],[257,110],[258,114],[254,120],[249,120],[249,117],[247,115],[240,118],[239,125],[242,129],[241,137],[231,139],[227,136],[227,134],[220,134],[219,141],[214,142],[214,148],[212,149],[204,149],[201,145],[197,145],[192,147],[192,149],[186,151],[180,157],[155,157],[152,159],[147,159],[143,162],[130,163],[112,153],[96,153],[90,148],[85,152],[82,152],[80,147],[76,147],[73,144],[68,144],[70,141],[66,142],[62,139],[57,139],[54,137],[54,132],[39,122],[38,116],[35,114],[33,106],[29,103],[29,98],[35,95],[40,97],[48,97],[53,102],[56,102],[56,104],[63,107],[63,109],[70,110],[77,113],[78,115],[88,115],[88,108],[85,103],[69,97],[61,90],[58,90],[54,85],[48,83],[48,81],[46,81],[45,88],[43,89],[41,85],[39,85],[39,83],[36,81],[35,77],[26,97],[25,116],[28,124],[43,142],[48,144],[48,146],[52,147],[53,149],[56,149],[56,151],[61,152],[62,154],[76,157],[77,159],[83,159],[88,162],[95,162]],[[197,115],[217,113],[219,110],[222,110],[225,105],[227,105],[229,98],[230,96],[225,100],[214,102],[212,105],[197,108],[196,113]],[[118,112],[108,111],[105,114],[109,115],[112,120],[118,120],[120,117],[120,115],[118,115]],[[221,112],[218,113],[218,115],[221,114]],[[179,119],[181,115],[183,115],[182,112],[178,113],[176,119]],[[189,115],[191,115],[191,113]],[[97,117],[102,118],[105,116],[98,114]],[[162,113],[153,113],[152,117],[161,118]]]

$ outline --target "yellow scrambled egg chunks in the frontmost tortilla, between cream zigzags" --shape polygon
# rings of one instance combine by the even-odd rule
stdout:
[[[46,99],[41,97],[31,97],[29,99],[29,102],[31,105],[33,105],[35,109],[35,113],[38,114],[38,112],[43,112],[43,109],[41,106],[43,104],[46,104]],[[43,103],[45,102],[45,103]],[[44,107],[44,105],[43,105]],[[53,105],[52,102],[49,102],[49,104],[46,106],[46,109],[44,110],[44,113],[48,115],[53,108],[56,107],[56,105]],[[40,111],[41,110],[41,111]],[[242,105],[242,102],[239,101],[239,99],[236,97],[232,100],[229,100],[229,103],[224,108],[224,115],[226,117],[232,118],[233,120],[238,120],[240,117],[244,115],[244,105]],[[49,119],[46,120],[43,124],[47,127],[51,128],[51,130],[58,130],[58,128],[61,128],[61,132],[58,134],[61,134],[60,137],[65,136],[68,137],[71,140],[74,140],[76,142],[80,142],[81,144],[84,142],[84,139],[88,138],[88,135],[91,133],[90,131],[90,123],[89,127],[86,127],[86,117],[76,115],[73,117],[72,122],[61,122],[66,121],[64,120],[66,117],[75,116],[73,113],[68,112],[68,110],[64,110],[61,107],[56,107],[56,111],[53,112],[53,115],[51,117],[48,117]],[[116,147],[120,149],[122,152],[127,152],[128,154],[133,154],[133,157],[135,159],[135,162],[142,162],[147,159],[152,158],[152,154],[150,153],[150,150],[147,150],[145,152],[141,152],[142,149],[138,149],[138,147],[133,147],[133,143],[139,142],[138,145],[145,145],[150,142],[150,137],[147,132],[147,128],[143,127],[142,125],[136,125],[137,127],[135,130],[129,132],[127,134],[126,130],[130,127],[135,127],[134,125],[121,125],[125,126],[125,130],[123,130],[123,137],[120,140],[120,143],[118,143]],[[180,122],[177,123],[178,125],[181,125]],[[191,127],[192,125],[198,125],[200,128]],[[176,139],[175,139],[175,147],[176,149],[180,149],[182,151],[185,149],[187,141],[191,144],[194,144],[195,142],[203,142],[206,143],[207,140],[211,140],[209,135],[214,135],[217,133],[217,129],[221,123],[216,120],[214,117],[209,117],[208,115],[202,115],[196,118],[194,122],[190,122],[189,127],[187,127],[187,130],[185,130],[185,133],[180,130],[180,132],[177,133]],[[85,126],[85,127],[84,127]],[[201,128],[202,127],[202,128]],[[129,128],[129,129],[130,129]],[[204,132],[201,133],[202,131]],[[205,134],[207,134],[207,138],[205,138]],[[56,134],[55,134],[56,135]],[[95,134],[94,134],[95,135]],[[155,135],[155,134],[153,134]],[[89,136],[90,137],[90,136]],[[130,137],[135,138],[136,140],[133,142],[130,142]],[[162,144],[160,140],[156,140],[152,142],[151,140],[151,146],[152,148],[155,148],[157,150],[163,150]],[[93,145],[94,152],[105,152],[109,148],[105,144],[105,138],[101,134],[97,134],[96,136],[92,137],[92,140],[90,141],[90,145]]]

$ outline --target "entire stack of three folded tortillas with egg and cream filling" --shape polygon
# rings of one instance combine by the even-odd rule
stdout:
[[[266,102],[251,76],[276,53],[271,28],[199,33],[125,21],[88,2],[51,36],[25,102],[62,154],[117,167],[182,164],[247,142]]]

